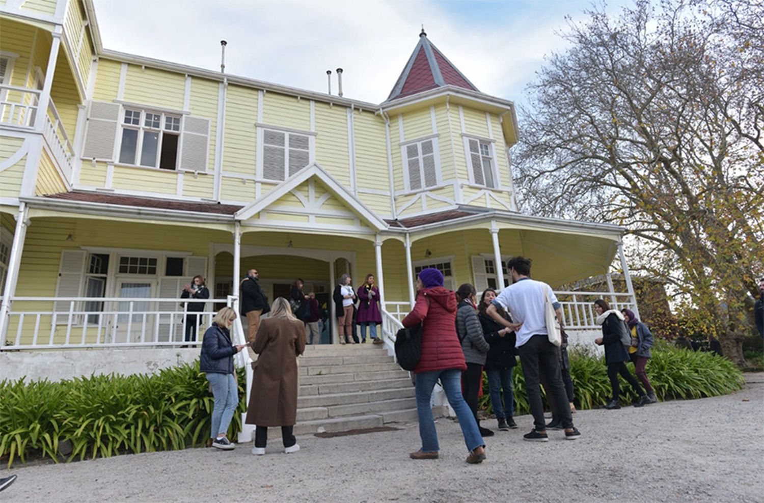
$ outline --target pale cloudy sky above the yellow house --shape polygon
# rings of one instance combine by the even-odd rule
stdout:
[[[226,73],[325,92],[326,70],[342,67],[345,96],[373,103],[387,98],[424,24],[478,89],[522,103],[544,55],[565,47],[555,35],[565,15],[582,18],[591,0],[94,3],[107,49],[219,69],[225,39]]]

